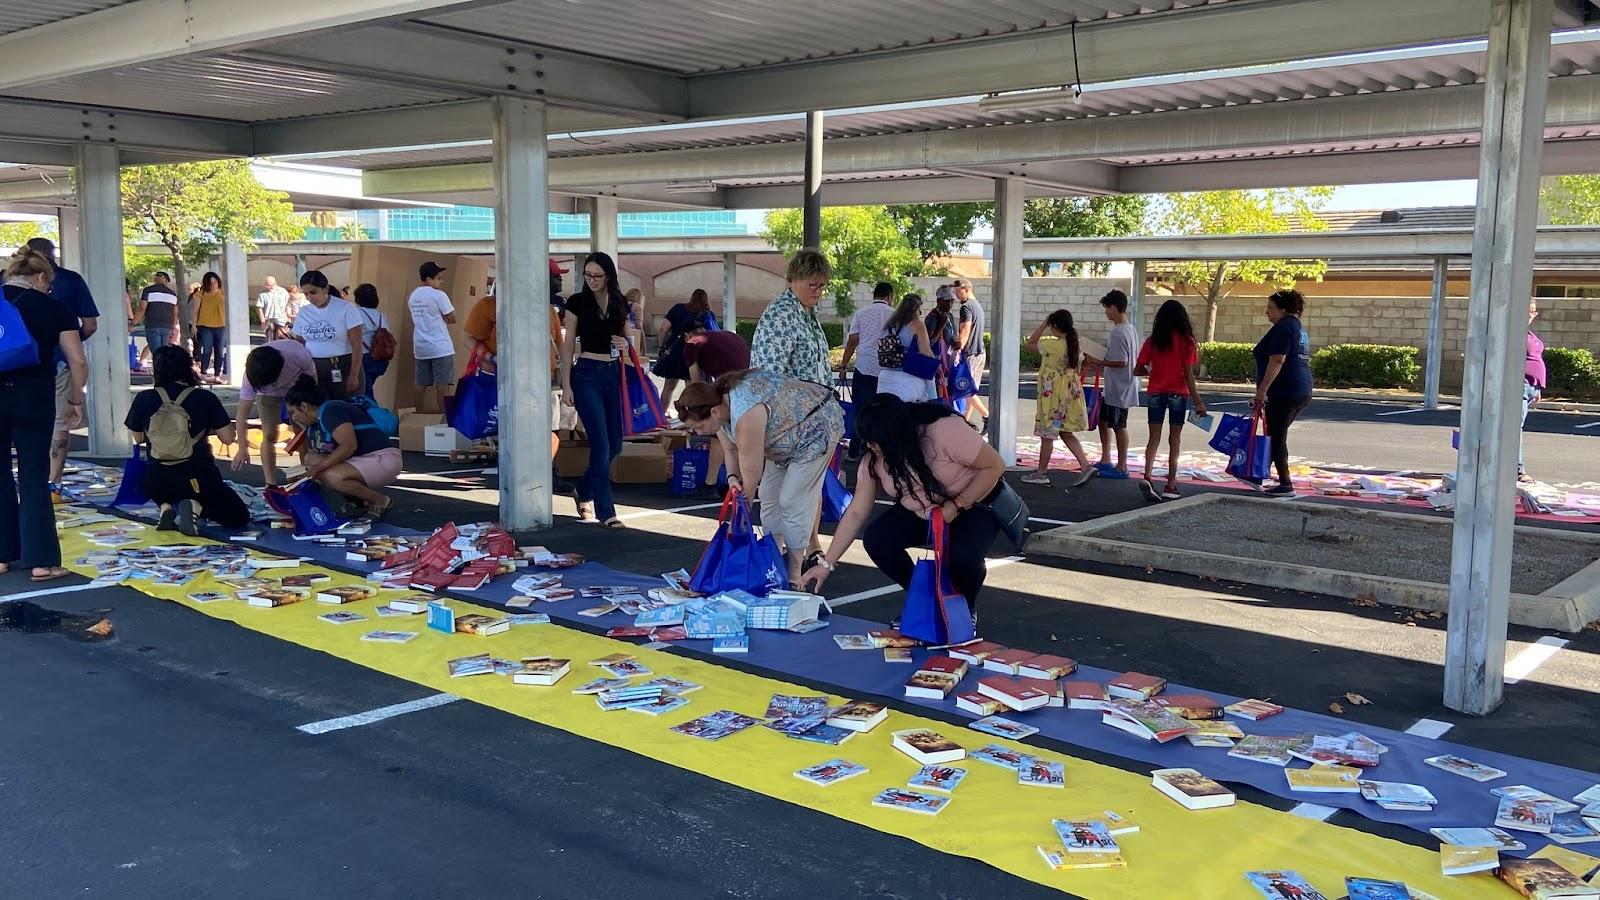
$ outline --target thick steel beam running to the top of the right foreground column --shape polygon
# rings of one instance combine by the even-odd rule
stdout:
[[[1482,0],[1234,0],[1171,14],[696,75],[690,117],[803,112],[1315,59],[1482,37]],[[1240,40],[1250,35],[1250,40]],[[1213,110],[1214,112],[1214,110]]]

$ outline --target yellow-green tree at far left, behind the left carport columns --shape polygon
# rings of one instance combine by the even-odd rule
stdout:
[[[189,269],[203,266],[226,242],[250,251],[258,235],[299,240],[306,234],[288,194],[262,187],[250,160],[123,168],[122,213],[126,243],[154,239],[166,248],[179,290],[189,283]],[[178,312],[187,335],[189,304],[179,303]]]

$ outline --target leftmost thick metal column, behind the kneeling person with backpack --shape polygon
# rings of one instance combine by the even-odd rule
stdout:
[[[128,429],[128,320],[117,309],[123,290],[122,267],[122,168],[112,144],[78,144],[78,256],[94,304],[99,330],[90,338],[88,431],[90,455],[126,456]]]

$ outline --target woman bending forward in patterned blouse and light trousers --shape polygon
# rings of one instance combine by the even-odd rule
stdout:
[[[718,437],[728,485],[762,501],[762,525],[779,535],[789,583],[798,583],[803,564],[822,556],[808,557],[806,548],[822,508],[822,474],[845,436],[845,408],[834,391],[750,368],[685,388],[678,418],[696,434]]]

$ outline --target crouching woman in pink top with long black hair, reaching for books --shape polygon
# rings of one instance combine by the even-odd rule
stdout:
[[[1000,520],[989,508],[1005,474],[1000,453],[942,404],[907,404],[893,394],[878,394],[861,405],[856,436],[866,445],[856,469],[856,496],[827,554],[800,583],[819,589],[866,527],[867,556],[894,583],[909,588],[914,564],[907,549],[928,546],[928,516],[938,506],[949,524],[950,585],[976,607],[987,575],[984,554],[1000,532]],[[867,525],[878,493],[896,504]]]

